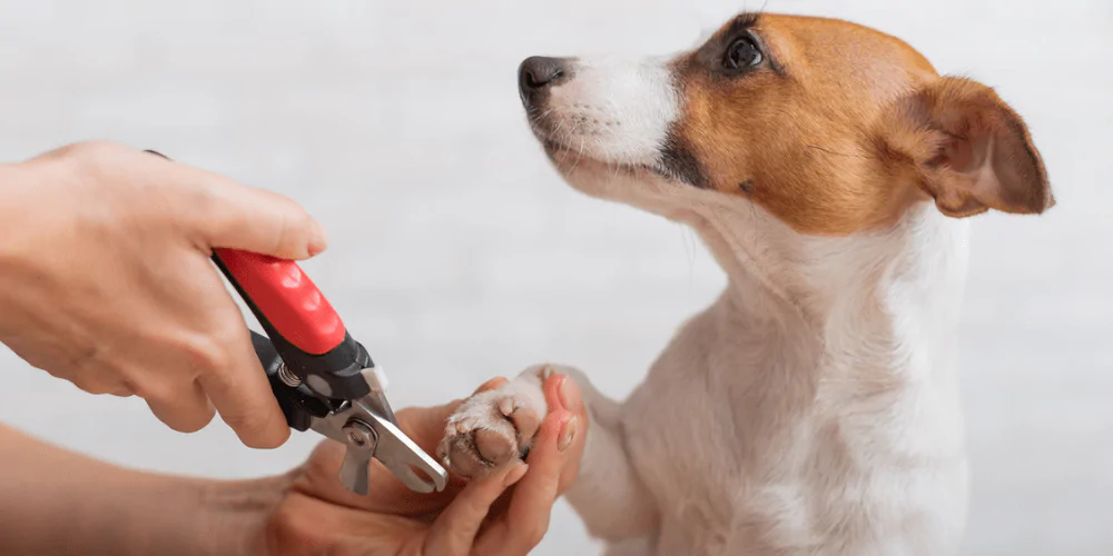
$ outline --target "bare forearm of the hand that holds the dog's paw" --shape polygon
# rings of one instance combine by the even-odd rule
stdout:
[[[289,479],[124,469],[0,425],[0,554],[255,554]]]

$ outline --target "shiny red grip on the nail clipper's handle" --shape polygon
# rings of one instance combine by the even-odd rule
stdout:
[[[294,347],[323,355],[344,341],[339,315],[297,262],[236,249],[215,251],[258,312]]]

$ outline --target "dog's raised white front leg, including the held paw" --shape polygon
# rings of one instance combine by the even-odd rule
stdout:
[[[484,476],[524,456],[548,411],[542,383],[549,373],[575,381],[590,420],[578,433],[588,435],[587,445],[579,476],[565,494],[569,502],[597,537],[650,536],[657,508],[627,455],[621,405],[595,390],[574,368],[539,365],[494,390],[472,396],[449,418],[437,455],[465,477]]]

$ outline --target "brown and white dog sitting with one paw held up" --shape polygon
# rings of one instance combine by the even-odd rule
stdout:
[[[608,554],[956,553],[967,217],[1055,203],[1022,118],[825,18],[743,13],[678,56],[519,72],[570,185],[690,226],[729,280],[624,401],[532,367],[459,408],[445,463],[521,456],[563,373],[591,421],[565,496]]]

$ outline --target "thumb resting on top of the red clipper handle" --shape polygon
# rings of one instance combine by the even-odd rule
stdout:
[[[162,166],[166,181],[195,191],[194,202],[181,208],[181,216],[206,247],[301,260],[328,246],[324,227],[282,195],[167,159],[147,160]]]

